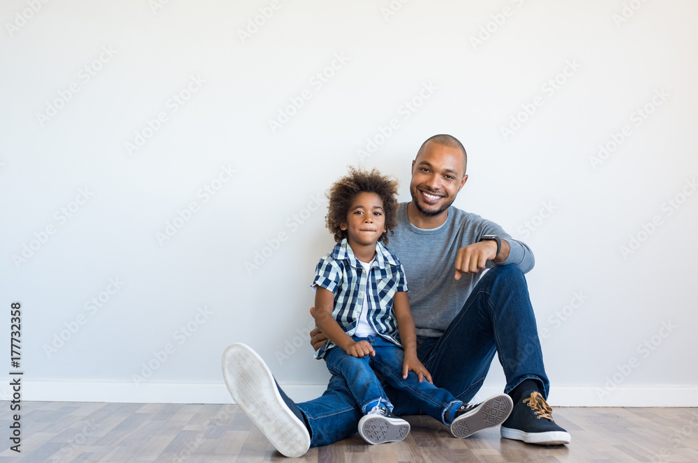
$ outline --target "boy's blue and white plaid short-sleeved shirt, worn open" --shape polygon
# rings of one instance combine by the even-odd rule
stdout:
[[[397,321],[392,304],[396,292],[408,290],[405,269],[380,241],[376,243],[376,258],[366,272],[344,238],[320,259],[311,287],[316,284],[334,293],[332,316],[345,333],[351,336],[356,331],[364,297],[369,296],[369,323],[378,335],[401,345],[396,339]],[[315,358],[324,357],[327,350],[335,346],[334,342],[327,341],[315,352]]]

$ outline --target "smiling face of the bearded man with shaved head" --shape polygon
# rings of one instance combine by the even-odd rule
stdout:
[[[417,210],[439,215],[450,206],[466,184],[465,160],[457,148],[429,142],[412,162],[410,193]]]

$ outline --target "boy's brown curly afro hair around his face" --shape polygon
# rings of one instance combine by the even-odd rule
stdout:
[[[334,241],[339,243],[347,237],[346,230],[340,228],[342,222],[346,222],[347,213],[354,199],[359,193],[376,193],[383,201],[383,211],[385,211],[385,229],[394,234],[393,229],[397,226],[397,210],[399,204],[397,196],[398,181],[391,180],[388,176],[383,176],[377,169],[367,172],[362,169],[349,167],[349,174],[343,176],[332,184],[327,192],[329,206],[325,215],[325,225],[332,234]],[[387,232],[378,238],[378,241],[388,243]]]

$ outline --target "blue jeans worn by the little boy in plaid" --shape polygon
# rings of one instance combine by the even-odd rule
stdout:
[[[408,373],[407,379],[403,379],[402,366],[405,352],[401,347],[378,335],[352,337],[352,339],[370,342],[376,356],[352,357],[341,347],[333,347],[327,351],[325,362],[330,373],[346,380],[347,388],[361,413],[365,415],[369,411],[369,404],[378,400],[385,404],[387,409],[393,410],[392,402],[383,390],[380,379],[376,377],[378,372],[385,379],[385,383],[406,395],[406,400],[417,404],[429,416],[447,424],[443,419],[443,413],[452,405],[460,404],[461,401],[426,379],[420,383],[417,374],[413,371]]]

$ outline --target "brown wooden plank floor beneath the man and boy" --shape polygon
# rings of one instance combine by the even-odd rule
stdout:
[[[22,453],[9,450],[10,407],[0,402],[3,462],[698,462],[698,409],[558,408],[569,446],[501,439],[490,428],[455,439],[428,416],[408,416],[402,442],[358,434],[290,460],[236,405],[22,402]]]

